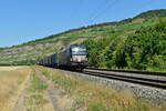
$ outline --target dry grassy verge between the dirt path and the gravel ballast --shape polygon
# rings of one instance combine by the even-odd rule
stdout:
[[[117,91],[104,84],[90,82],[53,69],[38,67],[43,74],[53,81],[72,98],[71,111],[165,111],[162,105],[152,105],[134,98],[131,91]]]

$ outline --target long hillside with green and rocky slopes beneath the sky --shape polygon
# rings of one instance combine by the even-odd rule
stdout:
[[[166,9],[151,10],[122,21],[72,29],[43,39],[25,42],[20,46],[0,49],[0,64],[33,64],[59,51],[62,47],[73,43],[83,43],[90,39],[97,41],[107,38],[107,43],[104,43],[106,46],[103,47],[103,50],[106,50],[106,48],[111,46],[112,40],[118,38],[123,41],[123,38],[128,38],[139,28],[155,26],[159,22],[158,18],[163,17],[166,17]]]

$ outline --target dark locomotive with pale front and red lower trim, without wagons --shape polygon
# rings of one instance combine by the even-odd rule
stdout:
[[[87,50],[85,46],[71,44],[58,54],[58,65],[61,68],[84,69],[87,67]]]

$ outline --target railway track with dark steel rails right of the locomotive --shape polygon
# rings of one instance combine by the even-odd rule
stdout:
[[[120,71],[120,70],[92,69],[92,68],[84,69],[83,73],[166,90],[166,73],[124,71],[124,70]]]

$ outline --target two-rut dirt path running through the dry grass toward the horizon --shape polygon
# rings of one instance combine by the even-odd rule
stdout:
[[[46,84],[45,90],[40,92],[29,92],[28,89],[32,87],[33,75],[37,75],[37,78]],[[38,104],[35,104],[37,102],[30,101],[30,104],[27,105],[25,101],[31,99],[31,95],[42,95],[43,99],[46,100],[46,103],[43,104],[44,107],[38,107]],[[11,111],[69,111],[72,105],[72,99],[64,94],[60,88],[55,88],[53,81],[49,80],[44,77],[42,71],[37,69],[29,70],[24,81],[19,85],[14,95],[10,100]],[[34,107],[37,107],[37,109],[33,109]]]

